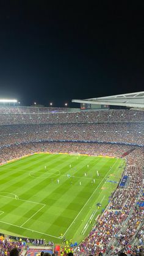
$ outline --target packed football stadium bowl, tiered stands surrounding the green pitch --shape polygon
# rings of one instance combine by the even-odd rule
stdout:
[[[143,245],[143,109],[91,101],[1,104],[2,255],[131,255]]]

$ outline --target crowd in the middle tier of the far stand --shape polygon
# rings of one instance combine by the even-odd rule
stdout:
[[[0,145],[22,142],[90,141],[143,145],[141,123],[0,125]]]

